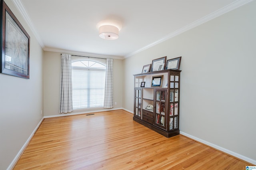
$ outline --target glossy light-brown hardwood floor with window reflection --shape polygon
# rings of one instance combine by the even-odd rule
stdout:
[[[178,135],[166,138],[123,111],[44,119],[14,167],[54,170],[245,170],[247,162]]]

